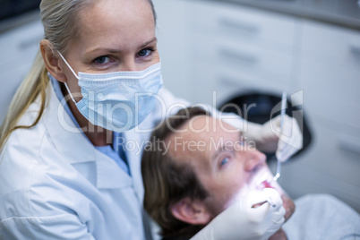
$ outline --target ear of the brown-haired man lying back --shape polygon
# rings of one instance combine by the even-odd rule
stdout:
[[[184,198],[171,207],[176,219],[193,225],[204,225],[210,222],[211,216],[203,201]]]

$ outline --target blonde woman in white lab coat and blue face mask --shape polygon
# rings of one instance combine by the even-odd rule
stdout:
[[[187,105],[161,89],[153,4],[43,0],[40,10],[45,38],[0,129],[0,238],[151,239],[141,152],[123,147],[143,147],[150,131],[141,129]],[[249,124],[248,135],[276,150],[268,128]],[[235,233],[207,229],[238,236],[231,223],[241,212],[228,215],[218,222]]]

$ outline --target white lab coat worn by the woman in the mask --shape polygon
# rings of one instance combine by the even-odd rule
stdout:
[[[167,90],[159,96],[167,107],[187,105]],[[139,151],[126,152],[128,176],[78,130],[64,129],[58,116],[76,127],[51,84],[47,98],[39,124],[14,131],[0,156],[0,239],[151,239],[142,210]],[[19,124],[32,124],[38,110],[39,101]],[[159,122],[163,112],[158,104],[140,128]],[[143,142],[150,133],[132,130],[124,136]]]

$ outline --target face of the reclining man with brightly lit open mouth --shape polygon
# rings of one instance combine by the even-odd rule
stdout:
[[[173,133],[167,139],[168,154],[193,167],[210,193],[205,203],[212,217],[256,187],[259,177],[268,171],[265,155],[252,142],[245,142],[234,127],[218,119],[198,116],[180,130],[184,133]]]

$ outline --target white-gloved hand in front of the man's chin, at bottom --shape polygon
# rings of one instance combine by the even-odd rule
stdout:
[[[270,199],[276,207],[265,202]],[[285,209],[280,194],[272,189],[248,193],[244,198],[221,212],[192,240],[265,240],[279,230],[284,223]]]

